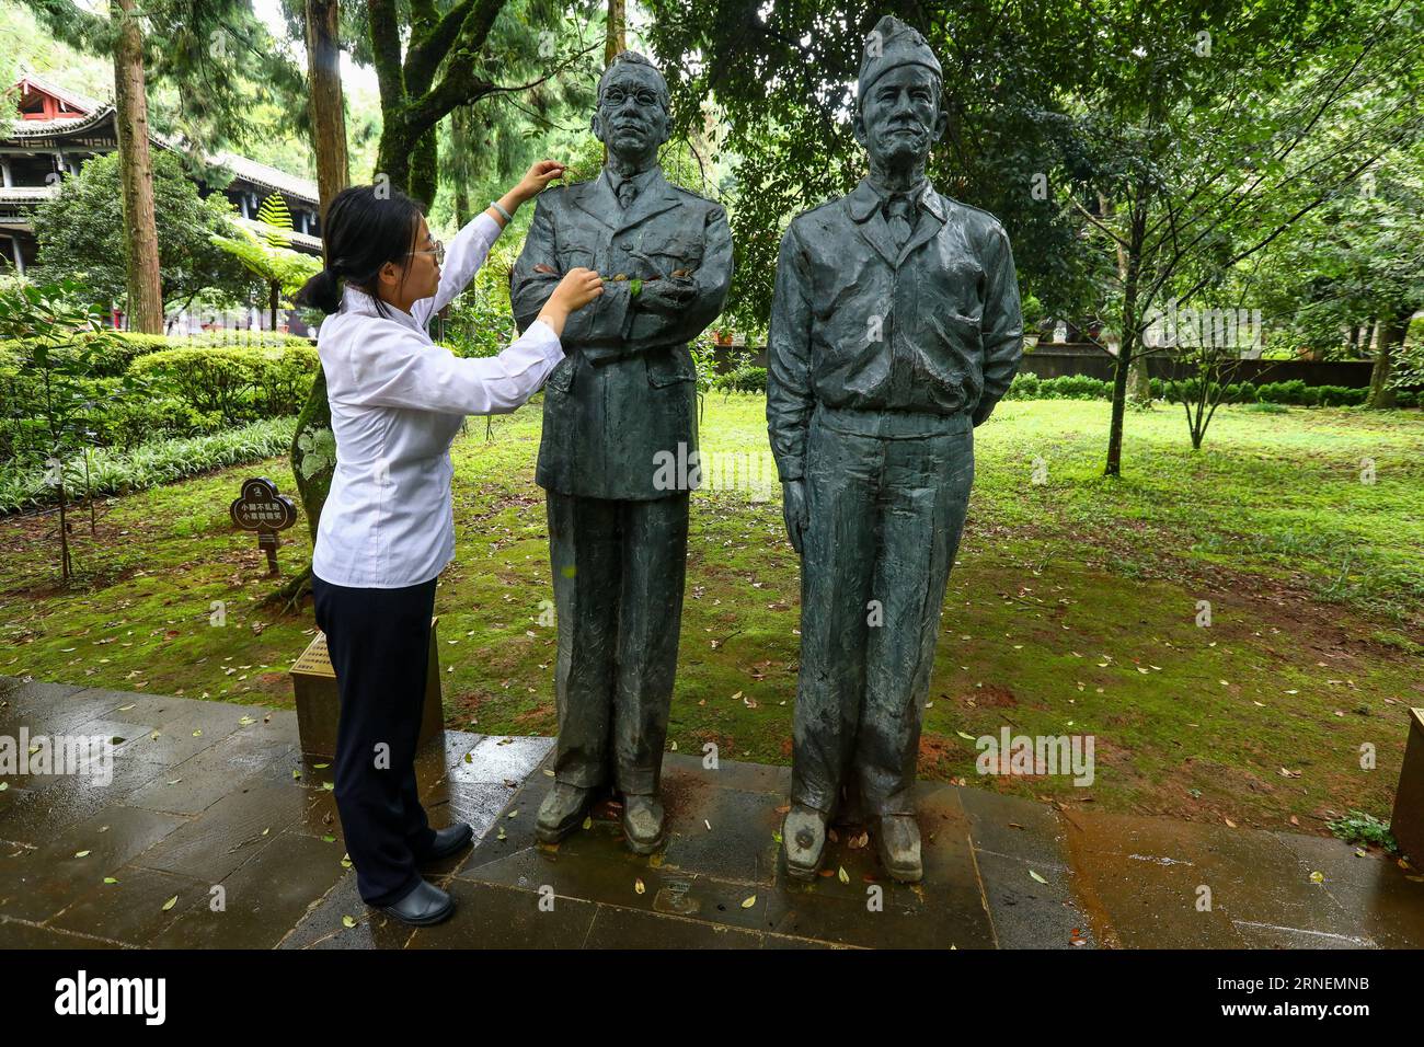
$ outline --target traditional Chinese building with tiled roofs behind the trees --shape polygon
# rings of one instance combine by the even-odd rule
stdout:
[[[114,152],[118,138],[112,103],[85,98],[33,73],[6,93],[6,110],[16,100],[19,118],[0,117],[0,258],[23,274],[38,254],[31,221],[36,205],[56,195],[60,178],[77,175],[85,160]],[[150,140],[161,150],[184,148],[158,132],[150,132]],[[258,221],[258,208],[273,192],[281,194],[292,215],[295,232],[286,232],[292,249],[322,252],[316,182],[228,152],[204,155],[204,161],[215,172],[231,174],[232,181],[221,189],[198,181],[201,195],[221,191],[238,211],[234,218],[261,234],[271,226]]]

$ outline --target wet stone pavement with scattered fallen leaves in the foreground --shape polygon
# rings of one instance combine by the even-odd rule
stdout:
[[[117,748],[108,785],[0,778],[9,949],[1424,946],[1424,883],[1339,840],[928,782],[924,883],[889,880],[856,826],[837,830],[829,875],[787,882],[789,771],[678,754],[659,855],[622,848],[612,805],[541,848],[551,739],[450,731],[420,756],[420,792],[434,825],[471,822],[477,845],[431,870],[456,916],[412,930],[362,905],[332,769],[302,761],[295,712],[0,677],[0,736],[21,726]]]

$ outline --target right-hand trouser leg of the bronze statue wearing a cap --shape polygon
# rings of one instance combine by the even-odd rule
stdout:
[[[913,813],[910,793],[930,692],[944,590],[974,483],[974,429],[965,415],[947,432],[886,440],[880,557],[871,598],[884,624],[870,630],[856,768],[869,815]]]

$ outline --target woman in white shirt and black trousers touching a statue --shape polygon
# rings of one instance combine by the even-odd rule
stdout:
[[[312,590],[340,694],[336,808],[362,899],[416,926],[454,909],[419,866],[471,839],[464,823],[430,828],[414,771],[436,577],[454,553],[450,442],[466,415],[515,410],[543,386],[564,359],[564,322],[602,283],[571,269],[524,335],[488,359],[454,356],[426,325],[464,291],[520,204],[562,172],[551,160],[534,164],[460,229],[449,256],[403,194],[345,189],[322,228],[326,268],[298,296],[332,313],[316,348],[336,472]]]

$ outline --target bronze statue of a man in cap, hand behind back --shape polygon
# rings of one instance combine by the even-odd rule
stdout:
[[[880,860],[923,876],[911,791],[974,427],[1022,355],[1008,236],[926,178],[946,130],[928,44],[883,17],[860,64],[869,175],[782,239],[766,420],[802,556],[787,870],[817,872],[843,789]]]

